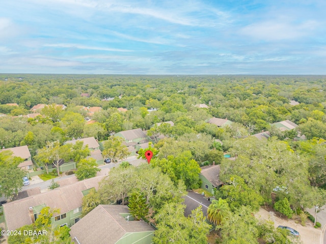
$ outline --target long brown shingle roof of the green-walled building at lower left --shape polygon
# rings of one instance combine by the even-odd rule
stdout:
[[[78,181],[73,185],[59,187],[49,192],[26,197],[3,205],[8,230],[15,230],[24,225],[32,224],[29,208],[45,204],[51,209],[59,208],[60,214],[82,206],[82,191],[95,187],[103,176]]]

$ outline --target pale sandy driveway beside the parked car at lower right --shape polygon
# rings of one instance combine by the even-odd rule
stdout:
[[[263,208],[259,209],[259,212],[255,215],[258,219],[271,220],[274,222],[274,226],[279,225],[288,226],[300,233],[300,238],[305,244],[323,244],[322,230],[315,229],[313,223],[307,220],[306,226],[302,226],[301,223],[296,223],[294,220],[282,220],[278,216],[274,215],[274,212],[268,212]]]

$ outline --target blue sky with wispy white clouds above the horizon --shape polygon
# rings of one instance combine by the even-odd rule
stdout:
[[[0,6],[0,73],[326,74],[324,0]]]

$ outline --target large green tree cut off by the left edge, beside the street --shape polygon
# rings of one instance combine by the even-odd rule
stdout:
[[[22,177],[26,172],[18,168],[23,159],[13,157],[12,151],[4,150],[0,152],[0,196],[11,197],[17,194],[22,187]]]

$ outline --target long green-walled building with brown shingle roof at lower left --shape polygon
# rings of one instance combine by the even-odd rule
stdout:
[[[72,185],[29,196],[3,205],[6,228],[16,230],[24,225],[35,222],[43,207],[59,213],[51,218],[53,226],[68,226],[77,223],[82,216],[83,197],[93,188],[98,189],[98,182],[104,176],[78,181]]]

